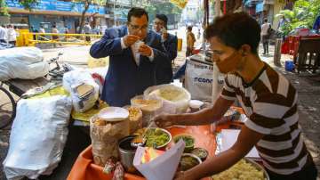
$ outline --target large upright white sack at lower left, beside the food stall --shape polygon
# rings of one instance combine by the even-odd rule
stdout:
[[[71,101],[65,95],[20,100],[4,160],[7,179],[50,175],[67,141]]]

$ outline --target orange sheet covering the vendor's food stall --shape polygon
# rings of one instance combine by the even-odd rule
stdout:
[[[209,151],[209,157],[216,151],[215,135],[210,132],[210,126],[197,127],[172,127],[167,129],[172,136],[179,134],[189,134],[195,137],[195,147],[202,147]],[[169,147],[172,143],[169,144]],[[88,179],[112,179],[113,174],[104,174],[103,168],[93,163],[92,146],[90,145],[80,153],[72,167],[68,180],[88,180]],[[124,180],[143,180],[145,178],[125,173]]]

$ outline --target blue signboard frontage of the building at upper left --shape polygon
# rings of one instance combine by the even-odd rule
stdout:
[[[46,32],[51,32],[52,25],[56,25],[60,32],[67,27],[69,33],[75,33],[84,11],[84,4],[56,0],[41,0],[32,11],[25,10],[19,0],[6,0],[6,4],[10,13],[10,23],[27,24],[29,28],[33,27],[36,30],[43,26]],[[105,6],[92,4],[85,13],[86,21],[106,26],[108,13]]]

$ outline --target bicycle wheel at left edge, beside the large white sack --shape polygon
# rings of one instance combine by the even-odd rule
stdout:
[[[0,86],[0,129],[7,127],[16,114],[16,102],[12,94]]]

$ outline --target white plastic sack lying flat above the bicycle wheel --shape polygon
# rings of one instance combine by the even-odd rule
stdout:
[[[1,50],[0,81],[44,77],[49,73],[49,64],[43,59],[42,51],[36,47]]]

